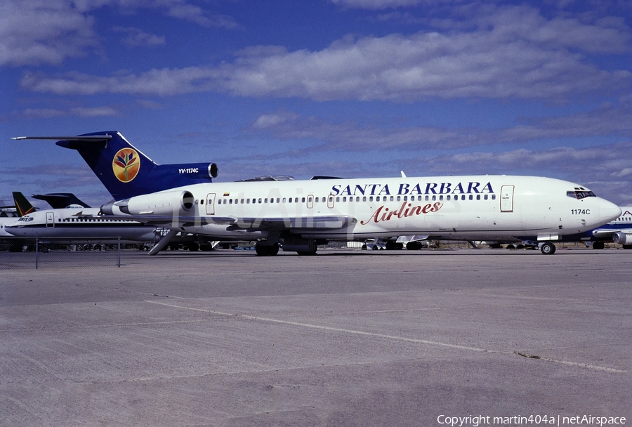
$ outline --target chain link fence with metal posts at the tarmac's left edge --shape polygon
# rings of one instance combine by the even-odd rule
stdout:
[[[0,270],[120,267],[121,239],[11,239],[0,244]]]

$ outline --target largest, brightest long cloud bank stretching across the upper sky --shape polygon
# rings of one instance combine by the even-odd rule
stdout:
[[[350,37],[321,51],[251,46],[233,63],[98,77],[25,74],[22,87],[59,94],[169,96],[203,91],[311,100],[522,98],[564,102],[628,88],[632,73],[601,70],[588,54],[629,51],[621,22],[546,20],[535,9],[492,9],[473,31]],[[618,24],[617,24],[618,23]],[[617,27],[617,25],[619,27]]]

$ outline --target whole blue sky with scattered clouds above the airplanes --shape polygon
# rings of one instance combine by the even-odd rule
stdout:
[[[631,53],[622,0],[5,0],[0,199],[107,202],[77,152],[9,138],[117,130],[218,181],[536,175],[632,204]]]

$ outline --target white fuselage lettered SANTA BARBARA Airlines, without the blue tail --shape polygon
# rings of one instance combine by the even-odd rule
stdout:
[[[179,196],[183,192],[190,192],[195,202],[184,206]],[[114,206],[121,203],[135,218],[169,212],[173,221],[162,224],[167,228],[218,239],[265,239],[275,230],[265,227],[266,218],[287,218],[287,230],[305,239],[429,235],[546,241],[592,230],[621,213],[581,185],[531,176],[204,183],[132,197]],[[345,217],[353,220],[345,222]]]

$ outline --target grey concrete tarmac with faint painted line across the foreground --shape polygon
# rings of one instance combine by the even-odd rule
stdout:
[[[631,425],[632,251],[319,251],[2,270],[0,424]]]

